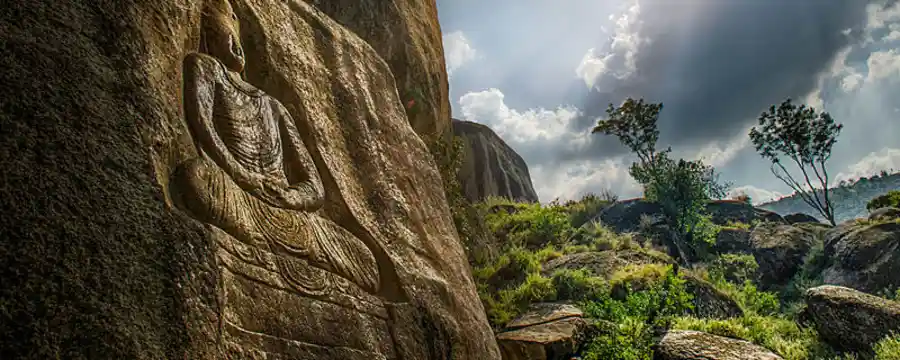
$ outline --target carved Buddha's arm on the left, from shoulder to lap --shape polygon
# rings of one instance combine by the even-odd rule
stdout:
[[[213,125],[213,106],[218,78],[222,74],[215,59],[192,53],[184,59],[184,114],[188,126],[207,155],[238,184],[259,188],[259,176],[246,169],[225,147]],[[198,149],[201,150],[201,149]]]

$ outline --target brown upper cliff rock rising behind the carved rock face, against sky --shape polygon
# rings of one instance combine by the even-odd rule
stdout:
[[[449,83],[434,0],[305,1],[356,33],[387,62],[419,136],[449,133]]]

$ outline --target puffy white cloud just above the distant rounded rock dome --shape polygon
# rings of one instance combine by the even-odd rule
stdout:
[[[466,120],[487,124],[503,140],[523,146],[545,141],[587,144],[589,133],[570,130],[569,123],[579,115],[578,109],[561,106],[518,111],[506,106],[503,98],[503,92],[495,88],[467,93],[459,98],[460,113]]]

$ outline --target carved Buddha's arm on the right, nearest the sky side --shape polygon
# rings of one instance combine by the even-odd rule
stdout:
[[[325,189],[322,179],[316,170],[316,164],[300,137],[297,125],[281,103],[273,101],[276,116],[284,143],[285,167],[290,186],[286,190],[284,201],[290,209],[314,211],[322,207],[325,201]]]

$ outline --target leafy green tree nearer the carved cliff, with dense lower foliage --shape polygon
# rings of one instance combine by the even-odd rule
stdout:
[[[725,196],[726,185],[718,174],[702,161],[674,160],[672,149],[656,149],[659,130],[656,122],[662,104],[627,99],[607,108],[609,117],[599,120],[591,133],[614,135],[637,155],[629,173],[644,187],[644,197],[658,203],[669,226],[675,230],[672,243],[679,257],[687,262],[715,238],[716,226],[705,214],[706,203]]]

